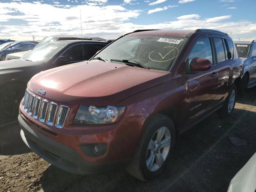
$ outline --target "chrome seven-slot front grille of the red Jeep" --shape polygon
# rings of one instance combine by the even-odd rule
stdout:
[[[22,105],[30,116],[42,123],[45,122],[47,125],[53,126],[56,120],[56,128],[64,126],[69,111],[68,106],[61,105],[58,109],[58,104],[34,96],[28,90],[25,91]]]

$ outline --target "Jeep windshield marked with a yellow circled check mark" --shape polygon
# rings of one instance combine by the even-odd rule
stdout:
[[[129,60],[138,62],[144,68],[168,71],[185,39],[174,36],[125,36],[110,44],[96,57],[110,62]]]

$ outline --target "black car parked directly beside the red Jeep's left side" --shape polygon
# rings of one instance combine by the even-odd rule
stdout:
[[[13,118],[18,115],[20,100],[32,76],[54,67],[88,60],[106,45],[105,42],[90,40],[49,42],[18,60],[0,62],[0,116]]]

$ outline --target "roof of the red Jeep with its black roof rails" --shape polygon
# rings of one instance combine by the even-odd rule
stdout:
[[[196,30],[136,30],[127,36],[135,36],[135,35],[159,35],[159,36],[179,36],[179,37],[188,37],[190,33],[195,32],[214,32],[221,33],[228,36],[228,34],[212,29],[196,29]]]

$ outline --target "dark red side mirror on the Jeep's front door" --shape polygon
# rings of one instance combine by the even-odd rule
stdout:
[[[190,62],[191,71],[207,71],[212,67],[212,63],[206,58],[194,58]]]

